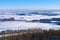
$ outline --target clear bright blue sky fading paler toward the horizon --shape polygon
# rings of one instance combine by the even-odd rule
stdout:
[[[0,9],[60,9],[60,0],[0,0]]]

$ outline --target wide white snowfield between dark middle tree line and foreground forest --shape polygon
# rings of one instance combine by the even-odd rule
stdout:
[[[7,22],[0,22],[0,29],[2,30],[17,30],[17,29],[34,29],[34,28],[42,28],[42,29],[50,29],[54,27],[60,27],[54,24],[47,24],[47,23],[31,23],[31,22],[20,22],[20,21],[7,21]],[[58,28],[59,29],[59,28]]]

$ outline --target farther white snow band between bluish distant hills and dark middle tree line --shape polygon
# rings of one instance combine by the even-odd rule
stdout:
[[[39,19],[51,19],[51,18],[60,18],[60,15],[57,16],[45,16],[45,15],[0,15],[0,19],[14,17],[16,20],[39,20]]]

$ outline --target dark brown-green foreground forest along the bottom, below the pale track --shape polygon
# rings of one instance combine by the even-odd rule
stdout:
[[[22,34],[20,34],[22,32]],[[24,30],[18,35],[4,36],[1,40],[60,40],[60,30]]]

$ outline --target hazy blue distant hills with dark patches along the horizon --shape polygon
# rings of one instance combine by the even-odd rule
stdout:
[[[46,15],[56,16],[60,15],[60,10],[0,10],[0,15]]]

